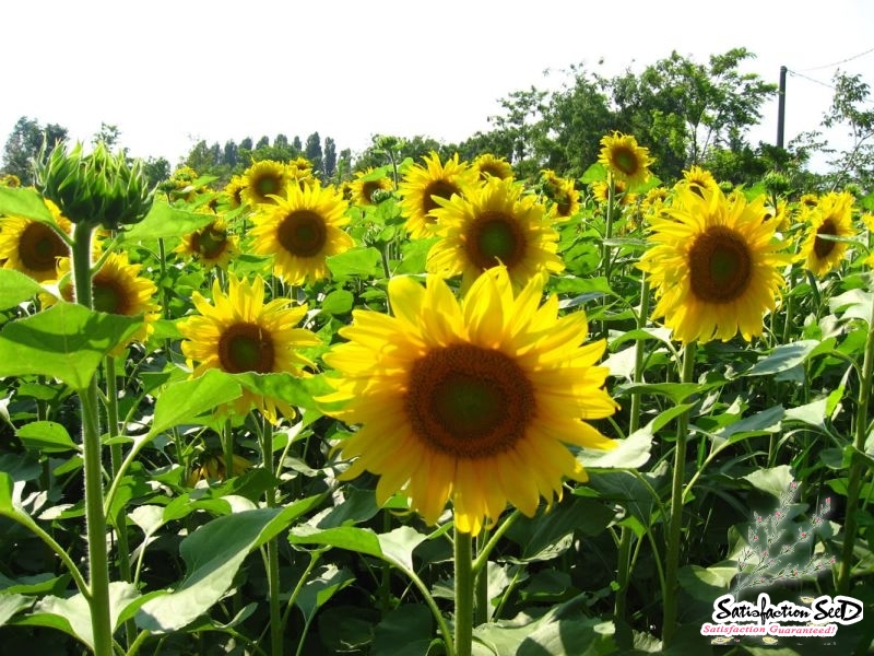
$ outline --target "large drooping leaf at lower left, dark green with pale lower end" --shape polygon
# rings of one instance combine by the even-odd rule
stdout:
[[[206,612],[231,587],[246,555],[296,517],[309,511],[318,497],[284,508],[256,508],[210,520],[179,544],[187,575],[174,591],[150,598],[135,621],[140,629],[166,633],[181,629]]]

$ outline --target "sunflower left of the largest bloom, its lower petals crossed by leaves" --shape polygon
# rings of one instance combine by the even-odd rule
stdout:
[[[212,303],[200,292],[194,292],[191,300],[198,314],[179,321],[178,328],[184,339],[182,354],[192,368],[192,376],[211,368],[229,374],[291,373],[299,376],[303,367],[311,366],[309,360],[295,351],[320,343],[309,330],[295,328],[306,315],[307,306],[288,307],[288,298],[264,303],[264,281],[260,276],[249,283],[232,273],[227,294],[222,292],[216,280],[212,285]],[[272,423],[277,421],[277,410],[286,417],[294,415],[294,409],[285,401],[246,389],[238,399],[220,408],[218,413],[241,417],[252,408]]]

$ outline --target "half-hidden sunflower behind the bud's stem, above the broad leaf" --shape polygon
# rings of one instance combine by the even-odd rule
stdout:
[[[157,285],[149,278],[140,276],[142,265],[131,263],[128,254],[110,253],[106,256],[101,269],[92,276],[92,304],[97,312],[137,317],[142,315],[142,326],[123,343],[110,351],[110,355],[123,354],[131,342],[145,342],[154,330],[154,323],[160,318],[161,306],[154,302]],[[47,281],[49,282],[49,281]],[[58,296],[73,302],[73,284],[70,278],[70,258],[58,260],[57,281]],[[48,285],[49,289],[54,285]],[[40,294],[43,304],[52,305],[52,294]]]

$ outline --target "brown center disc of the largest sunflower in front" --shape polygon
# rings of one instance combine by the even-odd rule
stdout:
[[[417,360],[405,408],[417,437],[461,458],[509,450],[536,410],[534,388],[519,365],[473,344],[434,349]]]

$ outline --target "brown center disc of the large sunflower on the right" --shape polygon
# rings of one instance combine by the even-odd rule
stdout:
[[[689,250],[692,293],[709,303],[740,298],[753,273],[753,258],[746,241],[723,225],[708,229]]]

